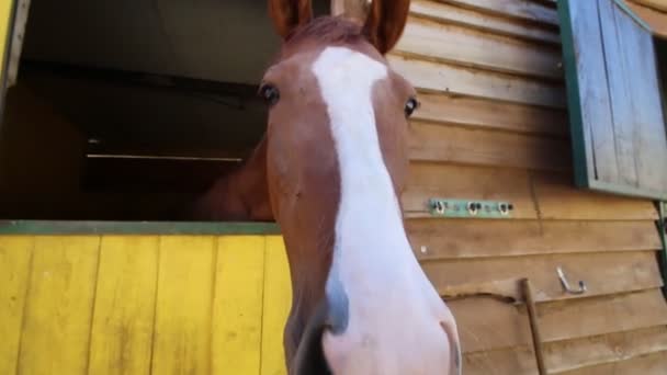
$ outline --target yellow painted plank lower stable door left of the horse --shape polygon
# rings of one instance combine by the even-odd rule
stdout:
[[[284,374],[280,236],[0,236],[0,374]]]

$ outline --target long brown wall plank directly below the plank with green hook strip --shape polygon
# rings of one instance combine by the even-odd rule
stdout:
[[[421,261],[660,248],[654,221],[409,219]],[[423,247],[423,252],[421,249]]]

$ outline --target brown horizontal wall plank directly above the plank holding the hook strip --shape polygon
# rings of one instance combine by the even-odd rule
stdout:
[[[532,170],[570,169],[566,139],[470,129],[414,121],[410,160],[513,167]]]

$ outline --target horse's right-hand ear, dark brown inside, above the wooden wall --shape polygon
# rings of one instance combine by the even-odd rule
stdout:
[[[373,0],[363,32],[369,41],[386,54],[398,42],[410,11],[410,0]]]

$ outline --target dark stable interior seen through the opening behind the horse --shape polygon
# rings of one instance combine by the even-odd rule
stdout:
[[[181,219],[260,139],[278,46],[265,0],[33,0],[0,219]]]

